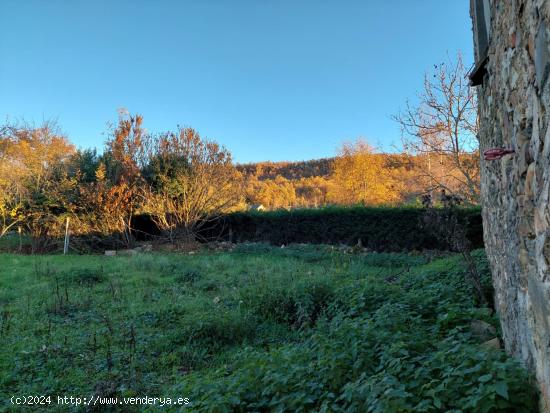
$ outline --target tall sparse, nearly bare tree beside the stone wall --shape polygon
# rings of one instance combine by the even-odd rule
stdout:
[[[403,147],[423,155],[420,176],[428,181],[428,192],[436,188],[479,200],[479,159],[476,95],[469,86],[462,57],[434,66],[424,76],[418,104],[394,116],[400,124]]]

